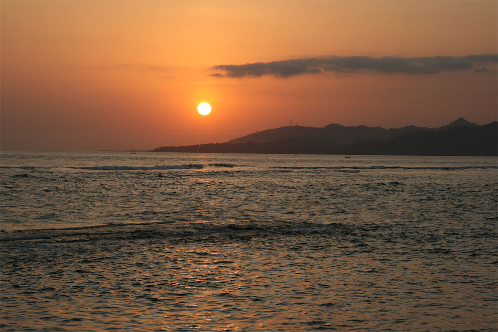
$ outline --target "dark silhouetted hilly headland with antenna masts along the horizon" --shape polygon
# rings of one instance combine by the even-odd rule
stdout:
[[[226,143],[162,146],[153,152],[496,156],[498,122],[480,126],[460,117],[438,128],[286,126]]]

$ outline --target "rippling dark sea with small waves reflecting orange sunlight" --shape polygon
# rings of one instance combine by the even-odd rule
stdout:
[[[497,331],[497,164],[2,151],[0,329]]]

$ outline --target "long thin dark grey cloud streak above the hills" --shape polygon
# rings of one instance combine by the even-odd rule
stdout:
[[[211,67],[222,73],[211,74],[214,77],[291,77],[303,74],[321,74],[322,72],[358,73],[377,72],[384,74],[437,74],[445,71],[465,71],[476,65],[497,64],[498,54],[478,54],[467,56],[434,57],[381,57],[368,56],[330,56],[303,59],[289,59],[272,62],[255,62],[244,65],[217,65]],[[475,72],[486,72],[486,68],[475,68]]]

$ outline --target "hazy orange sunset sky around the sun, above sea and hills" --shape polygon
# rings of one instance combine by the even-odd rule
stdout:
[[[497,118],[494,0],[2,0],[0,16],[2,150]]]

